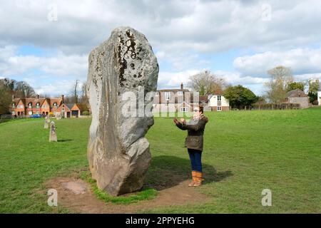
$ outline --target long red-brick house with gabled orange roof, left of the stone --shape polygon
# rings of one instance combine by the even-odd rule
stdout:
[[[60,113],[64,118],[79,117],[83,110],[89,110],[86,105],[66,104],[63,95],[60,98],[14,98],[11,103],[11,114],[16,116],[56,115]],[[74,113],[74,115],[73,115]]]

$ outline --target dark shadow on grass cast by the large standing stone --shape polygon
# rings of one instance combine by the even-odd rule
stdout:
[[[212,165],[203,165],[204,181],[203,185],[210,182],[220,182],[233,175],[228,170],[217,172]],[[156,190],[164,190],[178,185],[184,180],[190,180],[190,160],[175,156],[157,156],[152,157],[151,166],[146,173],[145,185]]]

